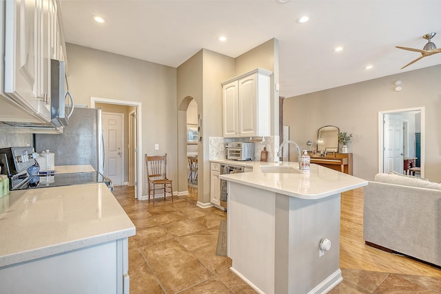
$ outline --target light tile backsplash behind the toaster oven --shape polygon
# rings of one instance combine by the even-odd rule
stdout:
[[[260,160],[260,151],[267,147],[268,161],[273,162],[278,151],[279,136],[263,137],[262,143],[254,143],[254,160]],[[249,142],[249,138],[209,137],[209,160],[225,159],[225,144],[228,142]]]

